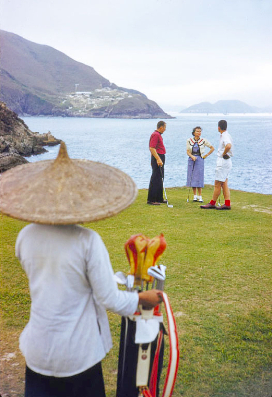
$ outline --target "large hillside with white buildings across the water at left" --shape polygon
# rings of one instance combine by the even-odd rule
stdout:
[[[171,118],[143,93],[91,66],[1,30],[1,100],[19,115]]]

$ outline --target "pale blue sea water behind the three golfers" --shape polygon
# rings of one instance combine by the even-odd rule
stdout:
[[[180,114],[165,120],[166,147],[164,182],[166,187],[185,186],[187,175],[186,140],[192,129],[202,127],[202,137],[215,151],[205,160],[204,183],[214,184],[216,152],[220,133],[218,121],[228,122],[234,141],[229,187],[248,192],[272,194],[272,115],[271,114]],[[151,176],[149,137],[157,119],[96,119],[23,117],[33,132],[50,131],[62,139],[71,158],[99,161],[129,174],[139,189],[148,188]],[[27,157],[28,161],[54,159],[59,146],[46,147],[47,153]],[[206,148],[206,153],[209,148]]]

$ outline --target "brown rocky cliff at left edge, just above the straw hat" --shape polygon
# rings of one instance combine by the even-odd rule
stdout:
[[[27,163],[27,156],[41,154],[44,146],[58,145],[60,140],[50,132],[32,132],[18,115],[0,102],[0,172]]]

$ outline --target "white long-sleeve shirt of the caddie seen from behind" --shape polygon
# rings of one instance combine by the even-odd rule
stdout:
[[[138,294],[118,290],[100,236],[77,225],[30,224],[20,231],[15,251],[31,296],[20,336],[27,366],[65,377],[101,361],[112,347],[106,309],[133,314]]]

